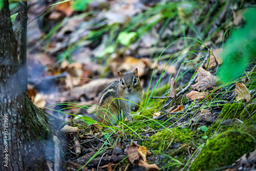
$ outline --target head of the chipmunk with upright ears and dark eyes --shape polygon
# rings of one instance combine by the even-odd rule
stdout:
[[[117,71],[119,76],[119,92],[125,94],[136,93],[142,90],[138,76],[138,69],[133,72],[121,73]]]

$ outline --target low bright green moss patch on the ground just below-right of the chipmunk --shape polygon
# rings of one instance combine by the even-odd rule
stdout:
[[[156,135],[152,136],[152,141],[148,144],[148,147],[158,149],[159,151],[162,148],[167,148],[168,143],[172,139],[172,143],[181,142],[181,143],[188,143],[193,140],[193,135],[195,132],[191,132],[190,129],[165,129],[163,131],[158,132]]]

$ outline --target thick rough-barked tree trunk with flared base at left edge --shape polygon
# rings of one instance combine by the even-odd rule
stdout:
[[[0,170],[43,170],[42,161],[54,158],[51,139],[63,122],[37,108],[22,89],[9,3],[0,1]]]

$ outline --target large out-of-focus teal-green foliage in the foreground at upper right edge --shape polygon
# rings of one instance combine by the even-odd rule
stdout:
[[[256,55],[256,8],[249,9],[244,14],[246,25],[233,31],[223,48],[221,57],[223,66],[219,77],[228,82],[232,77],[243,72],[247,62]]]

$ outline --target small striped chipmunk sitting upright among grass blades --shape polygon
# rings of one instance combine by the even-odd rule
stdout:
[[[142,100],[138,69],[124,74],[117,71],[117,74],[119,81],[105,88],[96,109],[97,121],[107,125],[116,124],[124,117],[130,119],[131,111],[136,112]]]

